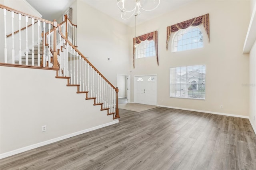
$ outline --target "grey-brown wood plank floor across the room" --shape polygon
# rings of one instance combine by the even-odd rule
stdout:
[[[0,160],[1,170],[256,170],[248,119],[157,107]]]

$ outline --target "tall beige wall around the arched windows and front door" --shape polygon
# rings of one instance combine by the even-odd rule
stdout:
[[[248,116],[249,89],[244,84],[249,82],[249,61],[248,55],[242,54],[242,48],[250,18],[249,5],[249,1],[196,1],[140,24],[137,35],[158,31],[159,66],[155,57],[136,59],[132,75],[158,75],[158,105]],[[167,26],[207,13],[210,15],[210,42],[203,29],[203,48],[176,53],[171,53],[171,48],[166,51]],[[199,64],[206,65],[206,99],[170,98],[169,68]],[[131,82],[131,91],[133,84]]]

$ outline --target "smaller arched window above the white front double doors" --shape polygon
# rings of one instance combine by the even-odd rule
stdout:
[[[156,56],[154,40],[145,40],[138,44],[138,47],[136,48],[136,58],[152,56]]]

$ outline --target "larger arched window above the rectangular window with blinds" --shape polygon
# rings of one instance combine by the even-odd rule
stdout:
[[[185,51],[203,47],[203,35],[198,27],[180,29],[172,39],[172,52]]]

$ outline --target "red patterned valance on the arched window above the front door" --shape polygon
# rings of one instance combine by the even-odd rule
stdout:
[[[154,32],[150,32],[148,34],[144,34],[142,36],[138,36],[136,38],[133,38],[133,68],[135,68],[135,65],[134,65],[134,59],[135,59],[135,42],[137,44],[145,41],[145,40],[153,40],[154,41],[154,45],[155,45],[155,50],[156,50],[156,62],[157,62],[157,65],[159,65],[159,62],[158,62],[158,40],[157,40],[157,31],[154,31]]]

